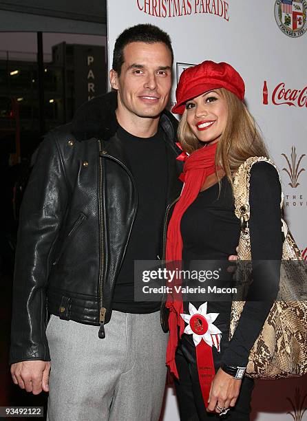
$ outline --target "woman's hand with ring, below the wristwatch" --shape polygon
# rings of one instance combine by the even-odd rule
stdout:
[[[233,378],[220,368],[211,383],[207,411],[220,413],[221,411],[216,407],[217,404],[220,408],[234,407],[241,383],[242,380]]]

